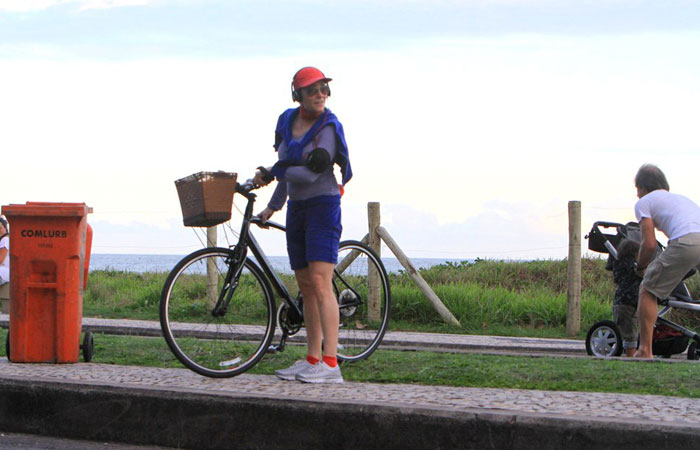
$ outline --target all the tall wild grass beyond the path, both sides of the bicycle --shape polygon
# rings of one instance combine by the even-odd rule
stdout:
[[[566,337],[567,262],[481,260],[447,263],[423,269],[426,279],[461,327],[445,325],[408,274],[391,274],[392,330],[470,333],[507,336]],[[84,296],[86,317],[158,319],[158,302],[166,273],[94,271]],[[283,276],[291,292],[293,277]],[[612,318],[615,293],[605,260],[582,260],[581,332]],[[698,293],[698,280],[689,281]],[[691,328],[700,327],[693,314],[676,314]]]

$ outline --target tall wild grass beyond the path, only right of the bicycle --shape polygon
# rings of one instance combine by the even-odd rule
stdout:
[[[421,270],[431,288],[460,321],[461,329],[445,327],[407,274],[391,276],[394,300],[392,326],[428,331],[565,337],[567,262],[506,262],[477,259]],[[700,277],[687,281],[697,295]],[[602,319],[611,319],[615,295],[612,273],[605,260],[584,258],[581,273],[581,332]],[[697,315],[676,314],[672,320],[695,328]]]

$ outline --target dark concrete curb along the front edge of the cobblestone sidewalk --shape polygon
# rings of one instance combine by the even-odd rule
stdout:
[[[0,429],[191,449],[686,449],[700,428],[0,378]]]

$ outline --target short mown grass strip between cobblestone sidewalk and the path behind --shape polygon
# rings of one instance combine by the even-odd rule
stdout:
[[[5,340],[6,330],[0,330]],[[4,356],[4,346],[0,354]],[[272,375],[305,354],[287,347],[249,373]],[[162,338],[95,335],[94,363],[182,368]],[[457,387],[619,392],[700,398],[700,364],[378,350],[343,365],[348,381]]]

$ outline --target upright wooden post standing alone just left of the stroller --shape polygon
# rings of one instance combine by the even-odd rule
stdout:
[[[581,331],[581,202],[569,202],[569,259],[567,277],[566,333]]]

